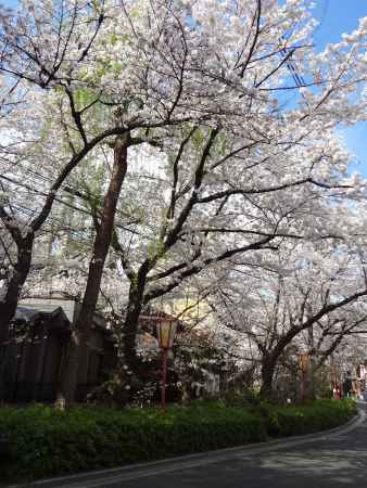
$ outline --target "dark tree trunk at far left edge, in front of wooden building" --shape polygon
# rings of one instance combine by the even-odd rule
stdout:
[[[0,399],[7,396],[11,380],[12,348],[9,346],[10,323],[16,312],[23,285],[29,274],[34,234],[29,233],[17,243],[17,261],[3,300],[0,301]]]

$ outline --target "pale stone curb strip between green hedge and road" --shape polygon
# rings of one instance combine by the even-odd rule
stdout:
[[[245,455],[249,452],[251,452],[251,454],[260,454],[277,448],[281,449],[296,446],[299,444],[308,444],[315,440],[326,440],[329,437],[354,431],[365,420],[366,413],[359,409],[357,415],[351,419],[346,424],[328,431],[321,431],[316,434],[271,439],[265,442],[248,444],[244,446],[236,446],[215,451],[197,452],[157,461],[135,463],[109,470],[98,470],[69,476],[54,477],[51,479],[41,479],[23,485],[10,485],[8,488],[103,488],[105,484],[137,479],[156,474],[194,467],[198,465],[212,464],[218,461],[225,461],[233,455]]]

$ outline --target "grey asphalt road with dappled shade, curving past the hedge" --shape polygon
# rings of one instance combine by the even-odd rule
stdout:
[[[366,406],[363,407],[366,411]],[[51,484],[37,484],[42,488]],[[63,488],[367,488],[367,420],[316,440],[290,439],[58,480]]]

